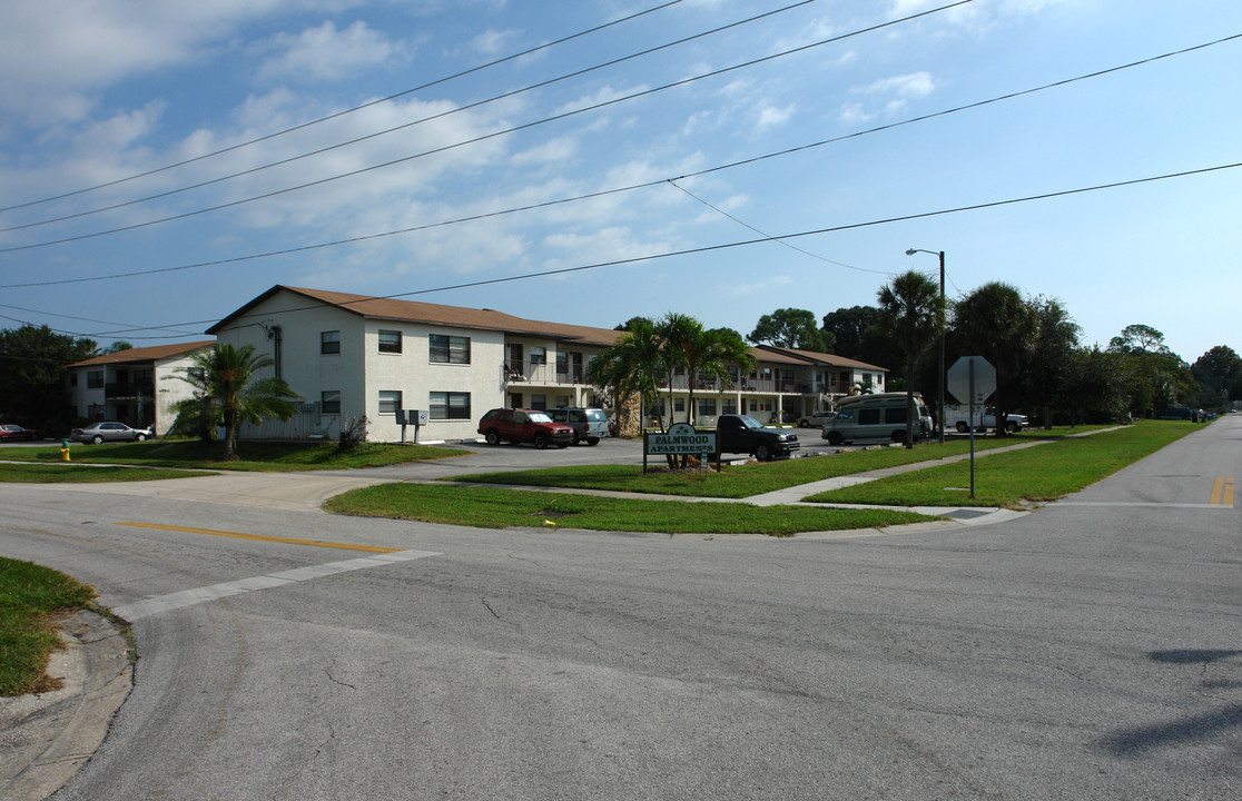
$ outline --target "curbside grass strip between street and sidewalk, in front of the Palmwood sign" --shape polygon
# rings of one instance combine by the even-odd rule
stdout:
[[[556,525],[664,534],[766,534],[878,528],[934,520],[886,509],[755,507],[746,503],[642,500],[486,487],[394,483],[354,489],[324,504],[337,514],[478,528]]]

